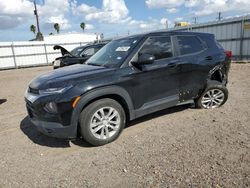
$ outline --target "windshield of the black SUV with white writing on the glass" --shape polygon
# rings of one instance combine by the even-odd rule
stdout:
[[[133,48],[138,44],[141,37],[131,37],[118,39],[109,42],[95,55],[93,55],[86,64],[117,67],[121,65],[124,59],[130,54]]]

